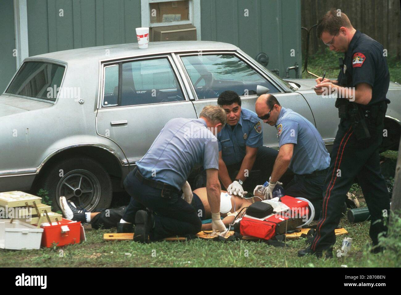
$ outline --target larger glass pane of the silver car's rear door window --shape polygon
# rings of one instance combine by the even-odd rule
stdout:
[[[142,105],[185,100],[166,58],[122,64],[122,97],[119,105]]]

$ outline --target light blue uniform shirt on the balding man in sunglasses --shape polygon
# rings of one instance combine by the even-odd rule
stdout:
[[[295,143],[290,170],[295,174],[311,174],[328,168],[330,155],[316,127],[292,109],[281,108],[277,123],[279,146]]]

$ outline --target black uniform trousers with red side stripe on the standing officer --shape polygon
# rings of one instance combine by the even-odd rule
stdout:
[[[367,122],[367,125],[371,137],[362,140],[356,139],[350,121],[341,119],[338,125],[324,183],[322,213],[311,246],[314,251],[329,249],[336,242],[334,229],[340,222],[346,193],[355,176],[358,177],[371,213],[369,235],[373,244],[377,244],[380,232],[387,232],[383,216],[389,214],[390,199],[379,166],[379,146],[383,140],[384,125],[377,126],[372,122]]]

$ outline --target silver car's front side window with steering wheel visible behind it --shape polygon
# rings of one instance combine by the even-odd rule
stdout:
[[[225,90],[240,96],[256,95],[257,85],[279,91],[257,71],[235,55],[182,56],[182,63],[194,85],[198,99],[216,98]]]

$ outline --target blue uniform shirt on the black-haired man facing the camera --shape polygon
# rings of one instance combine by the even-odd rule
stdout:
[[[219,152],[226,165],[242,162],[246,154],[246,146],[261,147],[263,145],[262,125],[256,113],[241,108],[241,115],[234,129],[226,124],[217,134]]]

